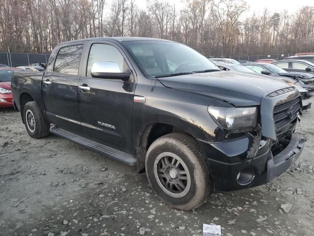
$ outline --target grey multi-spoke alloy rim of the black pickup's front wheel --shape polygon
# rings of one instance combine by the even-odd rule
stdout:
[[[157,156],[154,175],[159,187],[171,197],[182,198],[191,188],[191,176],[187,166],[172,152],[162,152]]]

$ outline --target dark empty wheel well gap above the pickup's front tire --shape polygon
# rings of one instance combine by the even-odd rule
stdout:
[[[170,133],[186,133],[182,129],[166,123],[153,123],[142,129],[140,138],[137,141],[137,171],[145,172],[145,157],[151,144],[166,134]]]

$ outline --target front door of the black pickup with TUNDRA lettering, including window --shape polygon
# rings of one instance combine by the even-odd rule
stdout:
[[[78,90],[78,106],[83,134],[99,143],[131,153],[133,93],[136,77],[123,82],[117,79],[91,77],[95,62],[115,62],[121,72],[131,63],[115,44],[90,42],[86,47]],[[134,70],[133,70],[134,71]],[[81,87],[79,87],[81,88]]]

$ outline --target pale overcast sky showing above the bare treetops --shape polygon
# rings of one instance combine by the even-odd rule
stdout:
[[[184,3],[182,0],[168,0],[171,4],[176,4],[178,9],[182,9]],[[247,3],[251,6],[250,12],[262,12],[266,7],[270,8],[273,12],[283,11],[287,9],[289,12],[294,12],[302,6],[310,5],[314,6],[314,0],[247,0]],[[136,0],[136,4],[142,8],[146,8],[146,0]]]

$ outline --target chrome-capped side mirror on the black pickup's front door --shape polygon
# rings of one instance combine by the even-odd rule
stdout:
[[[116,62],[95,62],[92,65],[91,76],[99,79],[128,81],[131,77],[131,71],[121,72]]]

